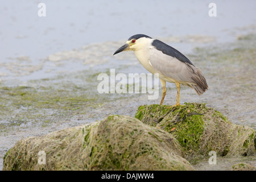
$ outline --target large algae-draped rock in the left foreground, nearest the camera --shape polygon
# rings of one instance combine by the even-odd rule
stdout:
[[[46,164],[39,164],[39,151]],[[109,115],[93,122],[19,140],[3,170],[193,170],[171,134],[136,118]]]

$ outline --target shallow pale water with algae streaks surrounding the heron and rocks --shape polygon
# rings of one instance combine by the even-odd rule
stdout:
[[[255,1],[215,2],[217,17],[208,16],[208,3],[203,0],[45,1],[46,17],[37,15],[35,2],[1,2],[0,169],[3,155],[19,139],[93,122],[108,114],[134,116],[139,105],[160,102],[160,96],[148,100],[147,94],[97,93],[98,73],[109,74],[110,68],[117,73],[147,73],[131,52],[112,56],[138,33],[167,42],[203,70],[209,90],[197,96],[182,86],[181,103],[205,102],[233,123],[256,129],[256,40],[255,35],[241,36],[255,32]],[[15,90],[16,86],[25,88]],[[173,84],[167,87],[164,104],[173,105],[176,88]],[[41,101],[20,96],[31,94],[33,99],[40,96],[38,92]],[[49,95],[58,101],[50,102]],[[227,160],[209,168],[201,162],[196,168],[229,169],[243,159]],[[255,165],[255,160],[249,163]]]

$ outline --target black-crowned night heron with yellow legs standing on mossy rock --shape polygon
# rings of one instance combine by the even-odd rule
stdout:
[[[163,86],[163,104],[166,96],[166,81],[175,83],[177,86],[176,105],[180,105],[180,84],[193,88],[201,95],[208,89],[207,81],[200,68],[195,67],[187,57],[150,36],[137,34],[131,36],[125,45],[117,49],[114,55],[122,51],[134,51],[139,63],[152,74],[158,73]]]

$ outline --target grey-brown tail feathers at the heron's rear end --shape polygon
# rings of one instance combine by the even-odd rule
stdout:
[[[203,72],[200,68],[196,67],[196,70],[194,70],[194,73],[192,75],[192,80],[195,82],[195,84],[191,84],[191,87],[196,91],[199,96],[205,92],[205,90],[208,89],[207,81],[205,80],[205,77],[203,75]]]

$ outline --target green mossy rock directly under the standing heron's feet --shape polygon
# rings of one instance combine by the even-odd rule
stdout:
[[[205,104],[142,105],[138,107],[135,118],[171,133],[189,160],[208,156],[209,151],[216,151],[218,156],[256,154],[254,129],[234,125]]]

